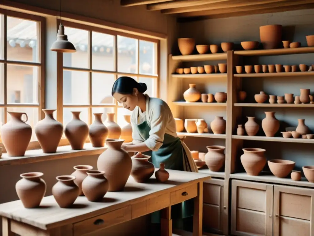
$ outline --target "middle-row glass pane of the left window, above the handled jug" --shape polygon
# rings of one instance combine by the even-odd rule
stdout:
[[[7,65],[7,100],[8,103],[38,104],[37,66]]]

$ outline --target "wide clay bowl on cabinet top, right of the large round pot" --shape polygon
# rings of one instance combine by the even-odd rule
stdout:
[[[267,163],[270,171],[278,178],[287,177],[295,167],[292,160],[268,160]]]

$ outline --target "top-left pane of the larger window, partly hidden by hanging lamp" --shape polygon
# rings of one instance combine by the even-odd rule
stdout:
[[[63,66],[88,68],[88,31],[64,27],[64,32],[76,48],[76,53],[63,53]]]

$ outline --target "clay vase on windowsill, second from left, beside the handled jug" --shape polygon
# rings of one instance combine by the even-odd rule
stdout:
[[[42,109],[45,118],[35,126],[35,134],[43,153],[54,153],[62,138],[63,125],[53,118],[55,109]]]

